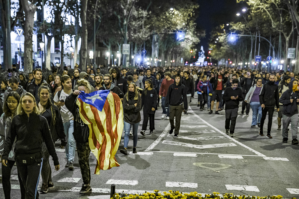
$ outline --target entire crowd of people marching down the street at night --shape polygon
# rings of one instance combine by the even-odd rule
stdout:
[[[28,81],[26,81],[28,79]],[[28,74],[8,69],[1,80],[0,90],[0,155],[2,185],[5,198],[10,198],[10,173],[13,165],[18,169],[21,198],[38,198],[39,173],[42,187],[47,193],[54,187],[49,162],[51,155],[55,170],[60,164],[54,143],[60,140],[65,148],[65,167],[74,170],[75,152],[79,158],[83,178],[81,194],[91,192],[89,166],[89,127],[80,118],[75,101],[83,91],[91,93],[110,90],[123,102],[124,140],[120,152],[128,154],[129,135],[133,135],[133,153],[137,153],[138,127],[146,135],[154,134],[155,112],[160,106],[161,119],[169,120],[174,138],[179,137],[181,116],[188,115],[188,107],[197,93],[199,112],[219,114],[225,109],[225,133],[234,137],[239,103],[241,114],[249,116],[252,109],[251,128],[263,126],[268,113],[266,138],[271,137],[274,111],[277,111],[278,129],[283,121],[282,142],[288,142],[291,124],[292,144],[298,144],[298,79],[293,72],[260,72],[228,67],[112,67],[109,70],[79,68],[68,72],[56,68],[47,78],[39,68]],[[214,106],[216,101],[216,106]],[[276,106],[276,109],[275,109]],[[174,122],[175,119],[175,122]],[[131,130],[132,129],[132,130]],[[132,132],[132,133],[131,133]],[[30,180],[28,180],[30,178]]]

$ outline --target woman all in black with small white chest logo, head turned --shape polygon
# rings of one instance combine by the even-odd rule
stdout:
[[[143,123],[141,135],[145,135],[147,129],[147,122],[149,120],[149,135],[153,134],[155,129],[155,112],[157,109],[157,92],[153,89],[152,80],[147,79],[145,81],[145,89],[141,95],[141,108],[143,107]]]

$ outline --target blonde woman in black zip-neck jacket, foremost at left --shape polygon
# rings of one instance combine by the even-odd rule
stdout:
[[[59,170],[58,157],[51,138],[49,125],[39,109],[35,98],[26,92],[20,99],[17,114],[13,117],[5,139],[2,164],[7,166],[8,154],[16,139],[15,161],[18,173],[26,189],[25,198],[38,198],[37,186],[42,166],[42,142],[45,141],[52,156],[55,170]]]

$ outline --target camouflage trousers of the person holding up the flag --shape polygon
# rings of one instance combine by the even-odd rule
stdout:
[[[77,142],[76,144],[77,144],[77,152],[78,152],[79,165],[80,165],[83,183],[90,184],[91,175],[90,175],[90,167],[89,167],[89,154],[90,154],[89,143]]]

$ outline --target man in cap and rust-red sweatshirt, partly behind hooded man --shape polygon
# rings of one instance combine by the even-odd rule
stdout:
[[[166,95],[167,95],[167,91],[168,88],[171,84],[174,83],[174,80],[170,77],[171,76],[171,72],[167,71],[164,73],[165,78],[163,79],[162,83],[161,83],[161,87],[160,87],[160,91],[159,91],[159,98],[161,98],[161,106],[163,109],[163,115],[162,115],[162,119],[165,118],[169,120],[169,109],[165,107],[165,99],[166,99]]]

